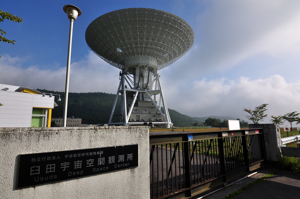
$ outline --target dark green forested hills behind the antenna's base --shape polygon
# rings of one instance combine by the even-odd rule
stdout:
[[[64,111],[64,92],[48,91],[45,89],[36,89],[42,93],[52,93],[60,95],[61,101],[57,101],[55,97],[55,103],[58,107],[52,110],[52,118],[63,117]],[[68,109],[67,117],[74,116],[75,118],[81,118],[82,124],[107,124],[111,110],[113,108],[113,102],[115,100],[115,94],[107,94],[101,92],[95,93],[69,93],[68,97]],[[164,112],[164,110],[162,109]],[[208,117],[190,117],[179,113],[173,109],[169,109],[171,121],[174,126],[193,126],[194,123],[201,125]],[[120,113],[120,97],[116,105],[115,114]],[[220,118],[226,120],[235,120],[233,117],[219,117],[210,116],[211,118]],[[114,122],[117,121],[117,116],[113,117]]]

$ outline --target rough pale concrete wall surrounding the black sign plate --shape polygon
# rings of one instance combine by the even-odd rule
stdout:
[[[19,154],[139,144],[139,166],[16,189]],[[150,198],[149,129],[129,127],[0,128],[0,198]]]

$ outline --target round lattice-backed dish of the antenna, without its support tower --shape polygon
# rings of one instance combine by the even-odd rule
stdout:
[[[144,62],[160,70],[187,53],[193,45],[194,32],[186,21],[172,13],[127,8],[91,22],[85,40],[96,55],[119,69],[143,57]]]

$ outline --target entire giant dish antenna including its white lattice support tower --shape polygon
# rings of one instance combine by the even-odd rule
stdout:
[[[126,8],[92,21],[85,31],[85,40],[96,55],[122,70],[109,125],[170,128],[173,124],[158,70],[190,50],[194,41],[191,26],[179,16],[162,10]],[[113,121],[119,94],[121,114]]]

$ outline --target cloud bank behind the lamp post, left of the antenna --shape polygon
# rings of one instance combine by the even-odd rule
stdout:
[[[43,70],[38,66],[22,68],[22,58],[1,56],[0,79],[2,84],[64,91],[66,67],[58,70]],[[70,65],[69,92],[116,93],[119,86],[119,69],[88,53],[79,62]]]

